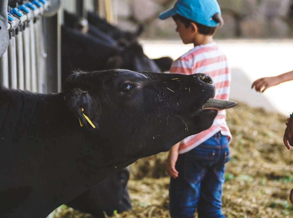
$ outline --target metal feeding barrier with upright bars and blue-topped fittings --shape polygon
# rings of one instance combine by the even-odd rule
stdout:
[[[1,85],[46,92],[42,19],[50,6],[51,0],[0,0]]]

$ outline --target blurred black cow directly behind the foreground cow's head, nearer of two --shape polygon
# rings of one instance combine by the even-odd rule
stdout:
[[[114,68],[160,72],[137,42],[112,45],[90,34],[62,26],[62,83],[75,69],[92,71]]]

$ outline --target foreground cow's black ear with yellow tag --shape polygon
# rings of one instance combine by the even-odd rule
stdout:
[[[66,97],[67,107],[74,114],[76,123],[81,127],[99,127],[100,101],[88,91],[74,88]]]

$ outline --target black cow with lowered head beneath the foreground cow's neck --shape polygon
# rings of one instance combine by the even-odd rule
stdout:
[[[127,191],[128,179],[129,170],[123,168],[67,202],[66,205],[84,213],[91,213],[97,218],[104,217],[103,212],[111,216],[114,210],[118,213],[130,210],[131,202]]]

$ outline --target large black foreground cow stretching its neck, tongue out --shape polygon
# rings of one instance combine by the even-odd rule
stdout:
[[[0,88],[0,217],[41,218],[141,157],[209,128],[205,74],[72,74],[65,91]],[[213,109],[209,109],[213,108]]]

